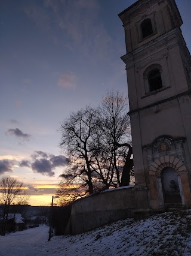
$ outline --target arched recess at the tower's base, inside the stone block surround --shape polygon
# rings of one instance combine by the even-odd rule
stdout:
[[[161,171],[162,191],[165,204],[181,203],[177,172],[172,167]]]

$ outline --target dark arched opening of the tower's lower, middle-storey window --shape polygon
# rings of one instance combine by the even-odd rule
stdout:
[[[148,80],[149,80],[150,92],[162,88],[161,73],[158,70],[158,68],[149,72]]]

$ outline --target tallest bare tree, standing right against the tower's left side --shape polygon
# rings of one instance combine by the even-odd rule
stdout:
[[[130,145],[131,127],[127,109],[127,97],[124,97],[119,91],[107,92],[106,96],[103,97],[100,129],[104,144],[107,145],[108,152],[110,152],[111,179],[109,180],[109,186],[130,184],[130,172],[133,169],[133,166],[131,166],[133,164],[133,159],[131,159],[133,151]],[[126,141],[128,143],[125,143]],[[122,165],[124,165],[123,168]]]

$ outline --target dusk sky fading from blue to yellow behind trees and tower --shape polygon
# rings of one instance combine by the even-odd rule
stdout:
[[[112,89],[127,96],[118,14],[134,2],[0,1],[0,178],[24,182],[33,206],[51,203],[66,167],[61,122]],[[191,50],[191,1],[176,2]]]

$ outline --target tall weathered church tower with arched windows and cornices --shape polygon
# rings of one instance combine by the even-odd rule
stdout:
[[[124,24],[136,209],[191,206],[191,57],[174,0],[139,0]]]

